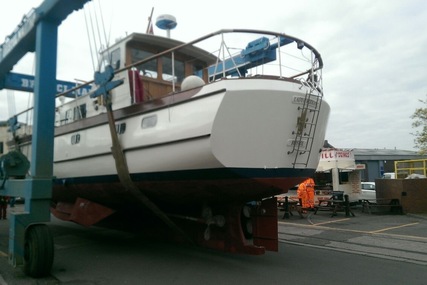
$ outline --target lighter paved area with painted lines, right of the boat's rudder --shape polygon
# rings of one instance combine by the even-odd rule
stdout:
[[[279,240],[383,259],[427,265],[427,214],[369,214],[361,207],[352,215],[340,211],[293,213],[279,211]]]

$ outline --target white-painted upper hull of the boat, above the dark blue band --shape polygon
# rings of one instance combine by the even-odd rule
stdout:
[[[293,98],[305,95],[296,87],[277,80],[223,81],[202,88],[195,96],[200,99],[117,121],[126,123],[119,138],[130,173],[294,168],[295,156],[287,154],[299,116]],[[227,91],[203,97],[223,88]],[[329,106],[323,102],[313,145],[316,150],[323,144],[328,113]],[[156,126],[142,129],[142,119],[153,115]],[[75,134],[55,138],[57,178],[117,173],[108,125],[78,131],[80,142],[72,145]],[[316,169],[317,153],[304,168]]]

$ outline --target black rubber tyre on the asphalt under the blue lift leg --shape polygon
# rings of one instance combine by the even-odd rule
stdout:
[[[27,229],[24,248],[24,272],[38,278],[50,274],[53,264],[53,236],[47,225],[34,225]]]

